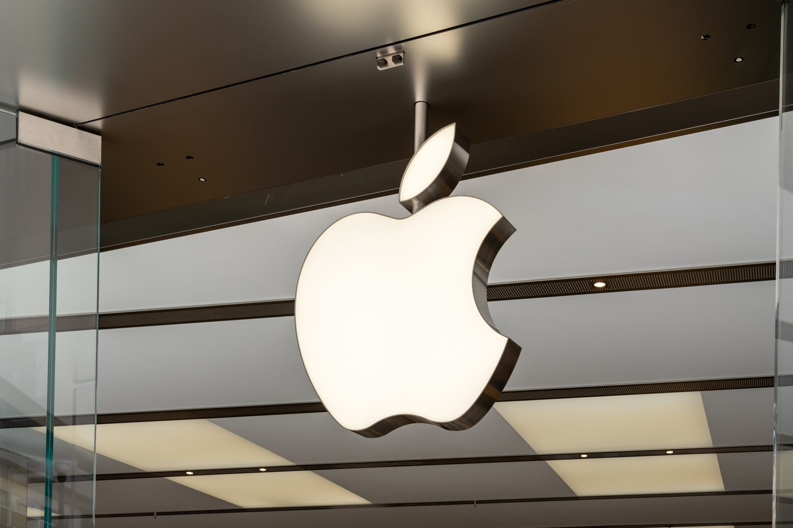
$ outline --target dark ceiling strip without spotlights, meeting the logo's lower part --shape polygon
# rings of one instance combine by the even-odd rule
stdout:
[[[780,386],[793,385],[793,375],[780,376]],[[723,391],[742,388],[772,388],[773,376],[730,377],[714,380],[664,381],[659,383],[633,383],[626,385],[593,385],[588,387],[531,388],[501,392],[498,401],[559,400],[563,398],[589,398],[592,396],[628,396],[636,394],[662,394],[667,392]],[[237,407],[205,407],[166,411],[138,411],[91,415],[57,416],[57,426],[94,423],[156,422],[163,420],[190,420],[241,418],[250,416],[297,415],[325,412],[320,402],[299,404],[242,405]],[[0,429],[40,427],[44,416],[0,419]]]

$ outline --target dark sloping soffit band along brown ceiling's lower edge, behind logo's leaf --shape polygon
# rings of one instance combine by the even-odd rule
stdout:
[[[779,82],[768,81],[471,147],[464,178],[550,163],[771,117]],[[102,251],[397,193],[408,160],[313,178],[102,224]]]

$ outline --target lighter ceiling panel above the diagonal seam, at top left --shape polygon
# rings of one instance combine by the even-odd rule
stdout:
[[[2,2],[0,101],[79,123],[534,3]]]

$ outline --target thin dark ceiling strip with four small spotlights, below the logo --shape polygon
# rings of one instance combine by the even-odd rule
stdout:
[[[623,458],[623,457],[670,457],[687,454],[722,454],[722,453],[770,453],[773,446],[726,446],[726,447],[694,447],[676,448],[674,453],[667,453],[667,450],[633,450],[633,451],[601,451],[592,453],[587,451],[586,458]],[[343,462],[328,464],[303,464],[303,465],[268,465],[265,466],[267,473],[281,473],[286,471],[325,471],[328,469],[370,469],[370,468],[404,468],[425,465],[465,465],[465,464],[496,464],[506,462],[538,462],[554,460],[582,460],[581,453],[546,453],[528,454],[511,456],[491,456],[491,457],[458,457],[458,458],[427,458],[418,460],[396,460],[396,461],[366,461],[366,462]],[[239,473],[259,473],[261,465],[251,468],[217,468],[217,469],[193,469],[186,468],[174,471],[149,471],[133,473],[99,473],[96,480],[133,480],[133,479],[152,479],[166,478],[169,476],[185,476],[187,471],[192,471],[193,475],[236,475]],[[54,478],[55,482],[82,482],[94,480],[93,474],[86,475],[59,475]],[[41,484],[44,482],[43,476],[29,478],[29,484]]]

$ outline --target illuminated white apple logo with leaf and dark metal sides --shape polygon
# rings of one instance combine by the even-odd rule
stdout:
[[[399,199],[411,216],[345,216],[303,263],[295,326],[305,369],[333,418],[363,436],[408,423],[468,429],[518,360],[487,305],[490,266],[515,228],[486,201],[448,197],[468,147],[456,124],[441,128],[404,171]]]

